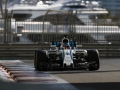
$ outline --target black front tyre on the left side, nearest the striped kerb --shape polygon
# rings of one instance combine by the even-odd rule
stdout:
[[[47,56],[42,50],[36,50],[34,54],[34,67],[37,71],[46,70]]]

